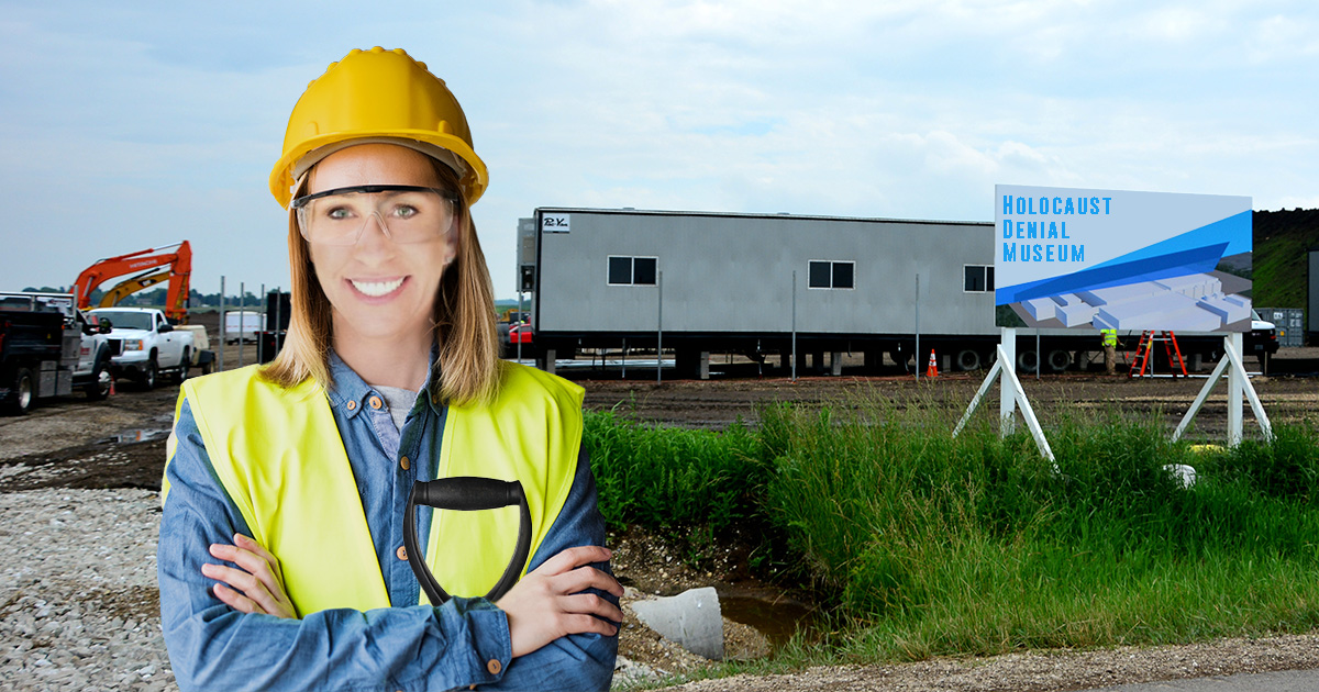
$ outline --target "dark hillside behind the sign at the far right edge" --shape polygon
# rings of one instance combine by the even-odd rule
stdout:
[[[1252,302],[1306,307],[1306,250],[1319,248],[1319,210],[1254,212]]]

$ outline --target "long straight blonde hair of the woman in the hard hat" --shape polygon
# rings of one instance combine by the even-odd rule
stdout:
[[[439,187],[452,192],[458,217],[458,252],[439,279],[435,293],[435,340],[439,357],[433,380],[438,394],[452,403],[488,403],[499,390],[499,332],[495,327],[495,290],[485,254],[476,239],[467,200],[460,192],[458,175],[431,159]],[[294,196],[306,194],[309,175],[298,182]],[[291,310],[289,332],[276,359],[261,368],[261,376],[285,388],[314,378],[328,390],[330,351],[334,344],[334,320],[330,299],[321,290],[311,252],[298,231],[297,214],[289,206],[289,273]]]

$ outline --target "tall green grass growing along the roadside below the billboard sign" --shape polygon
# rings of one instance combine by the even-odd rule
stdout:
[[[756,430],[588,417],[615,526],[745,523],[766,563],[814,589],[834,634],[776,662],[872,663],[1037,647],[1188,642],[1319,625],[1319,443],[1196,453],[1105,415],[951,436],[919,409],[772,406]],[[1190,464],[1179,486],[1165,464]],[[723,668],[745,670],[745,666]]]

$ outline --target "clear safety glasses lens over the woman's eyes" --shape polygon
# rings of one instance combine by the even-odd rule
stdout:
[[[434,187],[363,185],[293,200],[307,243],[353,245],[375,217],[394,243],[438,240],[454,219],[452,196]]]

